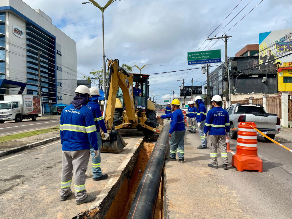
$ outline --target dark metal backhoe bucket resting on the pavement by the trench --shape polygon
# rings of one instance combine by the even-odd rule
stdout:
[[[124,142],[120,130],[111,131],[109,133],[109,139],[101,141],[101,152],[120,153],[128,144]]]

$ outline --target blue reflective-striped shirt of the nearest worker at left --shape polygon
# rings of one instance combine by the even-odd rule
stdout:
[[[93,114],[86,106],[75,109],[71,104],[62,111],[60,135],[63,151],[98,150]]]

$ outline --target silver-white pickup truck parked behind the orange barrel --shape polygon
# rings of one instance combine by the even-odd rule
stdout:
[[[257,129],[274,139],[281,131],[281,120],[277,114],[267,113],[260,104],[235,103],[228,107],[230,129],[238,128],[240,122],[254,122]],[[238,129],[230,130],[231,139],[237,139]],[[260,134],[260,133],[258,133]],[[269,141],[265,138],[266,141]]]

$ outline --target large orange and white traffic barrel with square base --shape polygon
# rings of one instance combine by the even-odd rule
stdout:
[[[241,122],[238,125],[236,154],[232,156],[231,164],[238,171],[257,170],[263,172],[263,161],[258,157],[258,140],[254,122]]]

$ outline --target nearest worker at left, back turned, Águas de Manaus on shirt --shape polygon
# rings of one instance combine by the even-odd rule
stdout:
[[[74,170],[74,186],[76,204],[91,202],[94,194],[86,194],[85,180],[90,147],[93,147],[95,157],[99,155],[96,137],[96,127],[93,114],[86,107],[91,97],[89,88],[80,85],[75,90],[76,96],[71,104],[63,110],[60,117],[60,135],[62,144],[62,174],[60,200],[66,201],[72,194],[72,170]]]

